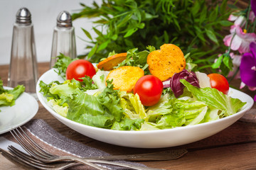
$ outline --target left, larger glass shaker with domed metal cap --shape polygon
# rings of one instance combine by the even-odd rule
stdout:
[[[31,13],[27,8],[20,8],[13,29],[8,86],[22,84],[28,94],[36,97],[37,81],[38,66]]]

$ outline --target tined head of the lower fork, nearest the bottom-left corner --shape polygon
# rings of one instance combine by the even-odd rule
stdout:
[[[16,148],[15,148],[16,149]],[[33,169],[44,169],[44,170],[63,170],[67,169],[70,166],[78,165],[78,163],[55,163],[55,164],[46,164],[43,162],[38,162],[36,159],[31,157],[28,154],[20,154],[18,157],[14,154],[10,154],[9,152],[5,151],[4,149],[0,148],[0,153],[9,159],[9,161],[13,162],[19,167],[23,169],[33,170]]]

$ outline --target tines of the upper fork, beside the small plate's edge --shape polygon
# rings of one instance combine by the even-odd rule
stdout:
[[[23,131],[23,130],[22,130]],[[26,137],[22,135],[22,133],[16,128],[10,131],[11,135],[17,140],[17,142],[26,150],[29,154],[33,155],[33,157],[42,157],[43,159],[48,159],[50,156],[49,154],[45,154],[42,152],[42,148],[38,148],[38,145],[33,145],[32,139],[29,137],[27,140]],[[23,131],[24,132],[24,131]],[[25,133],[25,132],[24,132]],[[26,133],[25,133],[26,134]],[[26,135],[28,136],[28,135]],[[35,143],[35,142],[34,142]]]

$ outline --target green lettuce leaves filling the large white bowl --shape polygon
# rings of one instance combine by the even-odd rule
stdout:
[[[138,63],[134,62],[136,57],[128,59],[129,63]],[[181,96],[176,98],[168,88],[159,103],[146,107],[138,94],[114,90],[111,81],[105,84],[107,74],[98,70],[92,79],[84,77],[82,81],[50,84],[41,81],[39,85],[56,113],[78,123],[112,130],[161,130],[196,125],[233,115],[245,105],[216,89],[198,88],[180,79],[185,86]]]

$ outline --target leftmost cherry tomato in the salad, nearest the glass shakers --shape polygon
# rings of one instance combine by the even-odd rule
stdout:
[[[79,78],[85,76],[92,78],[95,74],[95,67],[93,67],[92,63],[87,60],[75,60],[68,65],[66,78],[82,81]]]

